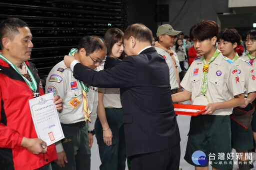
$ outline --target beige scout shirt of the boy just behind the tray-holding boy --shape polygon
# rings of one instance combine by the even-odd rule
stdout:
[[[256,76],[252,66],[242,58],[237,58],[234,61],[237,67],[241,86],[243,87],[243,94],[247,97],[248,93],[256,91]]]

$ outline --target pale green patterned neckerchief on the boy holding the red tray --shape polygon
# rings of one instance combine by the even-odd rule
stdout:
[[[207,73],[208,73],[208,70],[209,70],[209,64],[218,56],[219,53],[220,53],[220,50],[218,50],[216,48],[215,53],[213,54],[213,56],[210,58],[210,60],[207,63],[205,61],[204,55],[202,56],[202,61],[203,61],[203,64],[204,64],[203,68],[202,68],[202,71],[203,71],[202,83],[201,83],[202,91],[195,97],[198,97],[200,94],[204,94],[205,97],[207,98],[208,102],[209,102],[209,100],[208,100],[208,97],[206,96],[206,90],[207,90],[207,85],[208,85]]]

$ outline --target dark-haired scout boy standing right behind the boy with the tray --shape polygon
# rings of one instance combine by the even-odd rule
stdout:
[[[256,97],[256,78],[253,68],[249,62],[239,58],[238,54],[234,52],[237,45],[240,43],[240,35],[238,34],[237,30],[235,29],[224,29],[220,31],[218,36],[218,44],[217,47],[221,51],[221,53],[226,56],[227,58],[231,59],[237,67],[237,73],[239,75],[239,79],[241,82],[242,89],[244,91],[244,98],[245,102],[244,105],[238,108],[238,111],[241,109],[244,111],[249,111],[253,108],[251,102]],[[236,109],[236,108],[234,108]],[[243,120],[246,119],[251,122],[252,115],[247,112],[243,113]],[[234,110],[233,110],[234,114]],[[249,116],[249,119],[247,117]],[[249,170],[249,162],[245,157],[245,153],[248,150],[253,148],[253,138],[252,138],[252,129],[251,126],[246,127],[245,129],[242,125],[240,125],[238,120],[234,118],[230,119],[231,121],[231,147],[236,150],[236,153],[241,153],[241,157],[239,161],[242,161],[241,164],[238,164],[239,170]],[[244,163],[244,162],[247,163]]]

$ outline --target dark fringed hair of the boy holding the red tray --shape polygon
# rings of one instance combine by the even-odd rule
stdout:
[[[200,41],[218,37],[218,25],[213,20],[200,20],[195,23],[189,31],[190,39],[196,38]]]

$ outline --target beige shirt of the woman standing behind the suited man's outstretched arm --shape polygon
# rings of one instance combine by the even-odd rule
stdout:
[[[104,66],[98,66],[97,71],[103,70]],[[104,107],[122,108],[120,99],[120,90],[118,88],[98,88],[98,91],[104,93]]]

